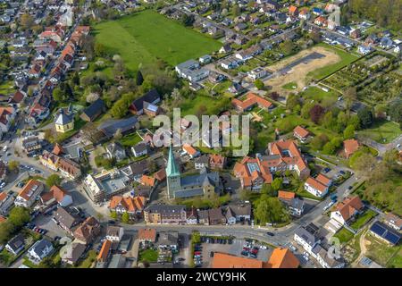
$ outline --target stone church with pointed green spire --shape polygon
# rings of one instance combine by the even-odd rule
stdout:
[[[207,172],[205,169],[198,175],[181,177],[180,167],[176,164],[172,147],[166,165],[166,181],[169,198],[193,198],[203,196],[212,198],[214,193],[222,191],[219,172]]]

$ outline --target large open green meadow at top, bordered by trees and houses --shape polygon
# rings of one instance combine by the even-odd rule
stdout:
[[[94,27],[96,41],[119,54],[130,70],[138,64],[154,63],[157,58],[171,65],[217,51],[222,44],[146,10],[117,21],[105,21]]]

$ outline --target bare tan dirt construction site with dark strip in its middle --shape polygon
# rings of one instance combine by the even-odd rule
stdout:
[[[272,77],[265,80],[264,84],[272,86],[272,91],[280,92],[283,95],[301,91],[306,86],[306,76],[310,71],[338,63],[340,60],[341,58],[336,53],[322,46],[314,46],[270,66],[268,71],[272,72]],[[297,88],[293,90],[282,88],[290,82],[297,83]]]

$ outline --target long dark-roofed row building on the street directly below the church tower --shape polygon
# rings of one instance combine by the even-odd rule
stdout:
[[[186,223],[185,206],[151,205],[144,210],[146,223]]]

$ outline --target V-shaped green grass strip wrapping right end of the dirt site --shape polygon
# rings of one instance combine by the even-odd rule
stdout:
[[[322,80],[323,78],[329,76],[332,72],[338,71],[344,66],[347,66],[349,63],[352,63],[358,59],[356,55],[352,55],[346,51],[342,51],[339,48],[332,47],[325,43],[320,43],[318,46],[323,46],[331,51],[335,52],[340,56],[340,62],[333,63],[328,66],[322,67],[321,69],[311,71],[308,73],[308,76],[312,77],[314,80]]]

